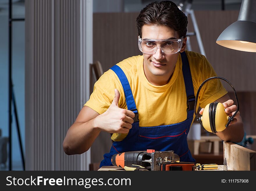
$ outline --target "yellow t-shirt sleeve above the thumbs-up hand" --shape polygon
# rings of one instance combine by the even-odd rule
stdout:
[[[115,97],[115,88],[120,92],[119,107],[124,107],[124,93],[121,83],[112,70],[105,72],[94,84],[90,99],[84,104],[97,113],[104,113]]]

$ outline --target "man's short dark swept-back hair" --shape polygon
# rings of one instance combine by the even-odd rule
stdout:
[[[143,8],[136,19],[138,35],[141,38],[141,29],[144,24],[169,26],[179,33],[179,38],[185,38],[188,19],[172,1],[155,1]]]

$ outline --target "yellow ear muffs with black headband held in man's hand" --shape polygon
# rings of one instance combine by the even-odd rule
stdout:
[[[222,80],[226,81],[227,83],[229,83],[229,85],[232,87],[232,89],[235,93],[235,97],[236,97],[236,101],[237,101],[237,110],[234,113],[234,115],[232,115],[232,117],[229,117],[226,114],[225,107],[220,102],[214,102],[214,103],[207,104],[207,106],[205,106],[205,109],[203,111],[202,117],[198,117],[198,115],[196,114],[196,105],[197,105],[198,95],[199,95],[199,92],[200,92],[202,86],[206,82],[208,82],[212,79],[215,79],[215,78],[222,79]],[[195,97],[194,113],[195,113],[195,117],[197,118],[197,121],[200,122],[204,131],[206,130],[206,131],[209,131],[214,134],[219,131],[223,131],[233,120],[233,118],[237,114],[238,110],[239,110],[239,103],[238,103],[238,99],[237,99],[236,90],[234,89],[233,85],[229,81],[227,81],[225,78],[217,77],[217,76],[208,78],[198,88],[198,91],[197,91],[197,94]]]

